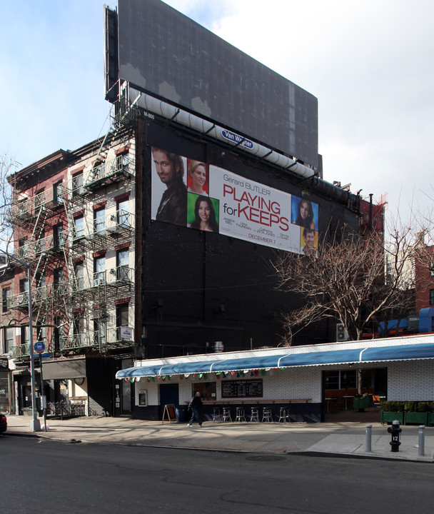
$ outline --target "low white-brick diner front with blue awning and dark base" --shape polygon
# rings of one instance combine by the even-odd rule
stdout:
[[[175,405],[184,420],[195,391],[203,398],[204,414],[215,408],[271,408],[278,420],[288,408],[291,421],[319,422],[330,408],[353,408],[358,381],[363,392],[388,400],[433,400],[434,335],[346,341],[288,348],[214,353],[136,361],[116,373],[131,383],[132,415],[162,419],[164,406]],[[346,397],[346,398],[345,398]]]

